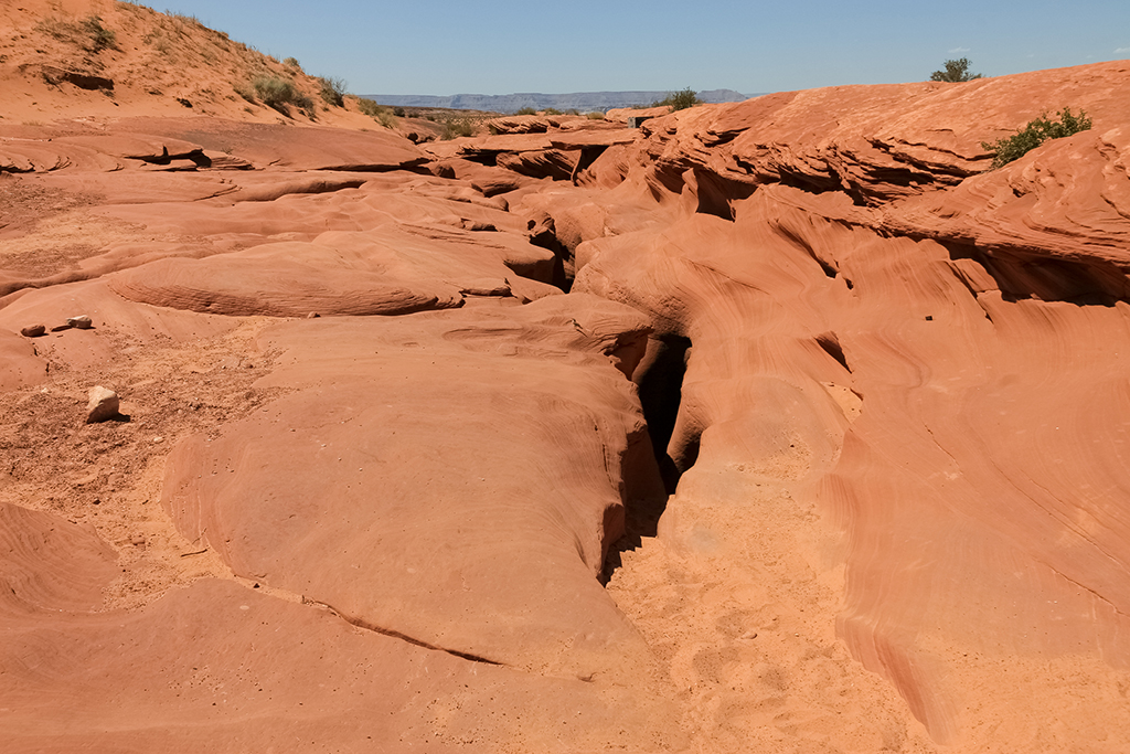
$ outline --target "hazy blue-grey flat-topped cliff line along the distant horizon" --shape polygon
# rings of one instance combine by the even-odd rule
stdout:
[[[496,113],[513,113],[523,107],[533,110],[579,110],[592,112],[607,111],[612,107],[631,105],[650,105],[662,99],[670,92],[575,92],[573,94],[539,94],[523,92],[518,94],[453,94],[451,96],[432,96],[423,94],[366,94],[382,105],[391,107],[444,107],[447,110],[485,110]],[[699,92],[703,102],[742,102],[757,95],[746,95],[733,89],[710,89]]]

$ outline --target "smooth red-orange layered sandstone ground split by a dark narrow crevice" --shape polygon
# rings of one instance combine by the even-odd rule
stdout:
[[[417,146],[53,44],[0,51],[53,109],[0,121],[5,751],[1130,748],[1130,63]]]

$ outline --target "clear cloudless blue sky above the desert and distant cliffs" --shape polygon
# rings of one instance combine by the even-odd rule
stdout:
[[[1130,58],[1130,0],[165,2],[358,94],[753,94]]]

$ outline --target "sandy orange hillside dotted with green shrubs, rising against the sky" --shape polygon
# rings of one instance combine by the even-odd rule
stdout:
[[[20,0],[0,7],[0,27],[11,32],[0,40],[0,115],[7,122],[73,112],[373,125],[355,99],[323,97],[321,80],[299,66],[189,16],[113,0]],[[268,106],[257,80],[289,84],[293,94]]]

